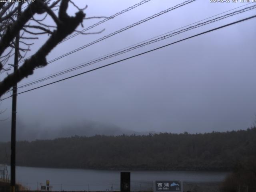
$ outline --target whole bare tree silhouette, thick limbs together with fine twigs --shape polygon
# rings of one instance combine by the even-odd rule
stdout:
[[[27,6],[19,12],[19,8]],[[78,9],[75,16],[67,14],[68,4],[72,4]],[[85,9],[85,8],[84,8]],[[16,47],[15,37],[20,34],[19,61],[21,62],[18,70],[8,74],[0,82],[0,96],[8,91],[14,84],[20,82],[25,77],[33,74],[33,70],[47,65],[46,56],[54,47],[69,34],[74,32],[79,24],[82,24],[85,14],[84,9],[78,8],[71,0],[27,0],[23,3],[0,2],[0,72],[8,70],[6,64],[14,54]],[[56,14],[58,11],[58,14]],[[17,17],[17,14],[19,16]],[[45,15],[44,15],[45,14]],[[36,15],[42,15],[42,19],[36,19]],[[46,23],[45,18],[50,16],[55,25]],[[26,60],[26,52],[30,50],[31,43],[28,40],[37,39],[41,34],[48,34],[48,40]]]

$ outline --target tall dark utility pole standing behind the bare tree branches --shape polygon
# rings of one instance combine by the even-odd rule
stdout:
[[[18,4],[17,19],[20,17],[21,3]],[[15,53],[14,53],[14,73],[18,70],[18,52],[19,52],[20,32],[15,37]],[[11,130],[11,182],[10,192],[15,192],[16,184],[16,104],[17,104],[17,83],[12,87],[12,130]]]

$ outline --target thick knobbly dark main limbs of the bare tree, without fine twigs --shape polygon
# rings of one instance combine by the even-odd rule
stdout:
[[[28,22],[28,20],[37,12],[42,14],[42,12],[46,11],[49,14],[48,8],[42,0],[37,0],[37,3],[33,3],[29,5],[20,16],[20,19],[16,20],[16,22],[8,29],[9,35],[4,35],[0,40],[0,55],[2,52],[10,46],[12,39],[18,31],[22,29],[22,27]],[[0,96],[8,91],[14,84],[20,82],[25,77],[33,74],[33,70],[36,67],[46,66],[46,56],[50,53],[50,51],[61,42],[66,36],[74,32],[77,26],[82,23],[85,14],[82,11],[76,13],[76,15],[68,16],[66,10],[68,8],[69,0],[62,0],[60,2],[60,8],[58,13],[58,20],[56,30],[52,32],[52,35],[48,40],[44,43],[44,45],[30,58],[24,61],[22,66],[18,68],[18,70],[10,75],[8,75],[2,82],[0,82]],[[35,7],[35,6],[39,6]],[[47,7],[47,8],[46,8]],[[55,14],[54,14],[55,15]],[[22,37],[25,38],[25,37]],[[3,48],[2,48],[3,46]]]

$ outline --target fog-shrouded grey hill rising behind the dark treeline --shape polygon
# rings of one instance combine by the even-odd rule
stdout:
[[[0,142],[10,141],[11,138],[11,121],[6,120],[0,122]],[[122,129],[114,124],[104,124],[102,122],[84,121],[78,123],[57,125],[57,126],[44,126],[39,123],[24,123],[21,120],[17,121],[16,125],[16,138],[17,140],[42,140],[54,139],[71,136],[94,136],[106,135],[147,135],[149,133],[156,133],[154,131],[136,132],[132,130]]]

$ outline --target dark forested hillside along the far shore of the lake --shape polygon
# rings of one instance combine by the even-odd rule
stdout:
[[[96,135],[16,142],[17,166],[233,170],[238,162],[255,157],[255,127],[204,134]],[[6,162],[10,162],[10,142],[0,143],[0,163]]]

